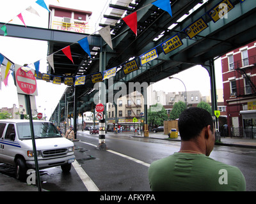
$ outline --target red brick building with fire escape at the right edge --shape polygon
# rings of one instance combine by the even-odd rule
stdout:
[[[230,136],[256,137],[256,41],[221,57]]]

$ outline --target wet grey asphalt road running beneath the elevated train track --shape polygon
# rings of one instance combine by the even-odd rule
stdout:
[[[108,133],[108,150],[97,150],[98,135],[83,131],[77,133],[77,138],[80,140],[74,142],[77,163],[73,163],[68,174],[62,173],[60,167],[40,170],[43,189],[150,191],[148,166],[157,159],[177,152],[180,147],[180,142]],[[256,191],[256,149],[215,146],[210,157],[240,168],[246,179],[246,191]],[[0,164],[0,172],[13,176],[14,168]]]

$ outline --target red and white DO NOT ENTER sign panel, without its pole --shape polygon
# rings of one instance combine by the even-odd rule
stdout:
[[[31,70],[26,72],[23,69],[18,68],[15,72],[15,76],[17,92],[19,94],[37,96],[36,78]]]

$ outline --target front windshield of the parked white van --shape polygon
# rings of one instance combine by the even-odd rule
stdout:
[[[33,122],[35,138],[58,138],[62,137],[57,128],[50,122]],[[29,122],[17,124],[17,131],[20,140],[31,139]]]

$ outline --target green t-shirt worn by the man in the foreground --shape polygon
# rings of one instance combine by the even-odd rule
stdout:
[[[152,191],[245,191],[243,173],[204,154],[175,152],[148,169]]]

